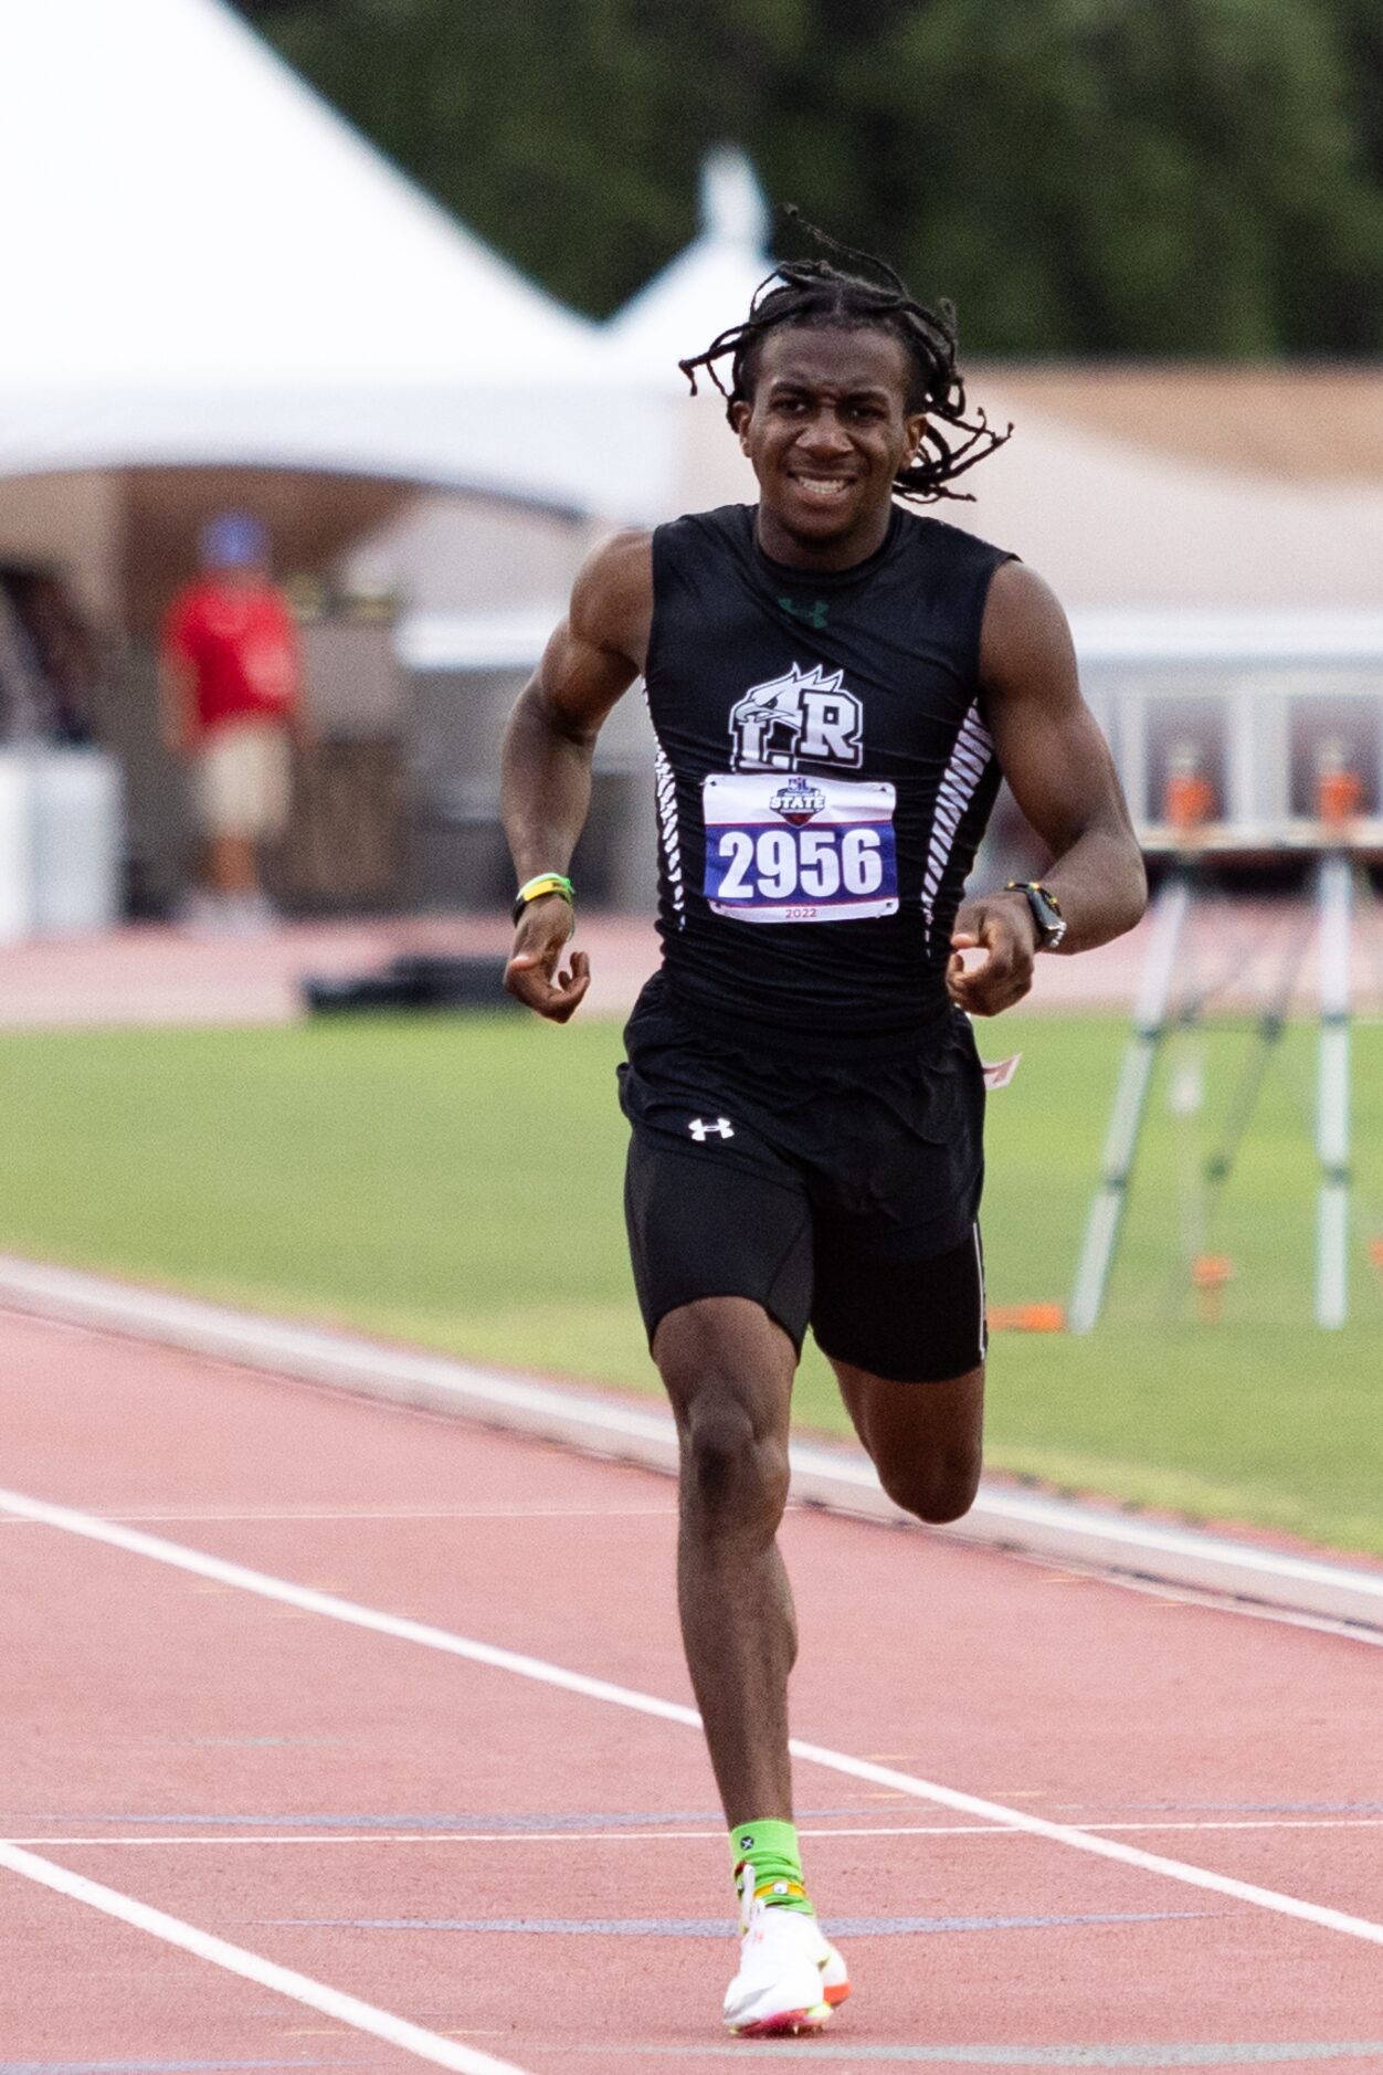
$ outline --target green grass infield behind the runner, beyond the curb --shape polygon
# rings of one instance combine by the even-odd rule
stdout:
[[[989,1106],[995,1305],[1066,1301],[1126,1025],[1010,1015]],[[1352,1322],[1310,1324],[1315,1040],[1292,1029],[1219,1204],[1196,1174],[1252,1040],[1157,1069],[1107,1316],[999,1332],[989,1463],[1192,1519],[1383,1554],[1383,1029],[1354,1038]],[[479,1361],[657,1388],[624,1255],[618,1029],[361,1017],[284,1029],[0,1038],[0,1245]],[[1203,1102],[1178,1118],[1196,1083]],[[1188,1257],[1232,1262],[1219,1322]],[[798,1421],[844,1432],[809,1349]]]

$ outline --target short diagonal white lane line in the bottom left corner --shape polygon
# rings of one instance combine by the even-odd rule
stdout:
[[[417,2060],[429,2060],[438,2069],[454,2069],[456,2075],[527,2075],[512,2060],[496,2060],[473,2046],[458,2046],[454,2040],[444,2040],[438,2031],[411,2025],[406,2017],[394,2017],[392,2011],[377,2011],[373,2002],[344,1996],[338,1988],[313,1982],[307,1973],[294,1973],[292,1967],[278,1967],[272,1959],[261,1959],[259,1953],[247,1953],[245,1946],[232,1946],[224,1938],[214,1938],[211,1932],[201,1932],[195,1924],[182,1924],[180,1917],[170,1917],[162,1909],[149,1909],[147,1903],[137,1903],[131,1894],[104,1888],[97,1880],[87,1880],[83,1874],[68,1874],[64,1865],[54,1865],[31,1851],[21,1851],[19,1845],[0,1845],[0,1865],[23,1880],[37,1880],[39,1886],[52,1888],[73,1903],[85,1903],[89,1909],[100,1909],[102,1915],[118,1917],[120,1924],[131,1924],[137,1932],[162,1938],[164,1944],[182,1946],[185,1953],[211,1961],[214,1967],[224,1967],[228,1973],[238,1973],[259,1988],[270,1988],[276,1996],[288,1996],[290,2002],[303,2002],[309,2011],[334,2017],[336,2023],[350,2025],[352,2031],[367,2031],[375,2040],[386,2040],[386,2044],[398,2046]]]

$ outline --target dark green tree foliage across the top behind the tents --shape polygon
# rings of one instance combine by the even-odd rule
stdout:
[[[952,295],[968,351],[1383,349],[1383,0],[243,0],[394,160],[608,313],[701,154]]]

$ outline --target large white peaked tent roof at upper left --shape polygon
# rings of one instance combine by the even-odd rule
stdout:
[[[0,8],[0,475],[245,465],[624,513],[603,340],[222,0]]]

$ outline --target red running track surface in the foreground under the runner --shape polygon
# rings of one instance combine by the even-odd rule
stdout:
[[[688,1697],[664,1479],[19,1318],[0,1355],[19,1492]],[[786,1552],[798,1735],[1383,1919],[1377,1650],[813,1513]],[[856,1994],[736,2046],[693,1731],[6,1515],[0,1592],[4,1838],[535,2075],[1383,2071],[1381,1946],[815,1766]],[[6,1870],[0,1951],[0,2075],[419,2067]]]

